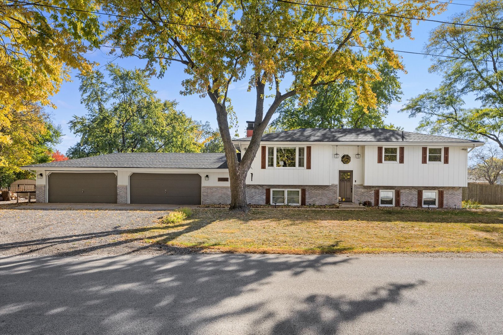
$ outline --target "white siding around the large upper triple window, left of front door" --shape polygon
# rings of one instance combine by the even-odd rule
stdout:
[[[261,146],[267,146],[261,143]],[[301,144],[271,144],[271,146],[294,146]],[[302,146],[308,146],[309,144]],[[261,169],[262,153],[257,152],[246,176],[247,185],[330,185],[331,146],[311,146],[311,169],[305,168],[266,168]],[[253,180],[251,174],[253,173]]]

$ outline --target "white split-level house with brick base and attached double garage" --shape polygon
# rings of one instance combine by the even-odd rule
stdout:
[[[248,123],[248,136],[253,123]],[[250,137],[233,141],[244,154]],[[483,142],[388,129],[297,129],[262,137],[248,202],[460,207],[467,153]],[[224,154],[116,153],[24,166],[38,202],[229,203]]]

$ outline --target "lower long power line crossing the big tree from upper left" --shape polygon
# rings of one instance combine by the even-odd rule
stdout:
[[[232,30],[232,29],[226,29],[226,28],[205,27],[205,26],[198,26],[198,25],[192,25],[192,24],[187,24],[187,23],[177,23],[177,22],[171,22],[171,21],[137,18],[137,17],[125,16],[125,15],[119,15],[119,14],[106,14],[106,13],[101,13],[101,12],[73,9],[73,8],[67,8],[67,7],[54,6],[54,5],[43,5],[43,4],[38,4],[38,3],[29,3],[29,2],[20,1],[20,0],[11,0],[11,2],[25,4],[25,5],[39,6],[39,7],[47,7],[47,8],[58,9],[58,10],[66,10],[66,11],[83,12],[83,13],[96,14],[96,15],[113,16],[113,17],[122,18],[122,19],[155,22],[155,23],[162,23],[162,24],[169,24],[169,25],[176,25],[176,26],[183,26],[183,27],[191,27],[191,28],[199,28],[199,29],[206,29],[206,30],[213,30],[213,31],[239,33],[239,34],[245,34],[245,35],[251,35],[251,36],[258,35],[258,36],[263,36],[263,37],[282,38],[282,39],[286,39],[286,40],[313,42],[313,43],[320,43],[320,44],[338,44],[337,42],[323,42],[323,41],[318,41],[318,40],[309,40],[309,39],[303,39],[303,38],[297,38],[297,37],[277,36],[277,35],[264,34],[264,33],[258,33],[258,32],[251,33],[251,32],[247,32],[247,31]],[[362,49],[370,49],[370,50],[392,51],[392,52],[407,53],[407,54],[413,54],[413,55],[445,57],[445,58],[450,58],[450,59],[463,59],[463,60],[472,60],[472,61],[477,61],[477,62],[489,62],[488,60],[485,60],[485,59],[475,59],[475,58],[468,58],[468,57],[437,55],[437,54],[430,54],[430,53],[424,53],[424,52],[414,52],[414,51],[395,50],[395,49],[388,49],[388,48],[361,46],[361,45],[348,44],[348,43],[345,43],[344,45],[350,46],[350,47],[362,48]],[[499,64],[499,63],[503,63],[503,61],[494,61],[494,63]]]

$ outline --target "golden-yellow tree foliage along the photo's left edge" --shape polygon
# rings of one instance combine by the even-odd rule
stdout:
[[[41,6],[43,5],[43,6]],[[41,105],[69,80],[71,69],[87,71],[85,53],[99,46],[95,2],[47,0],[31,4],[0,0],[0,171],[3,182],[25,176],[20,165],[42,163],[59,140],[59,129]]]

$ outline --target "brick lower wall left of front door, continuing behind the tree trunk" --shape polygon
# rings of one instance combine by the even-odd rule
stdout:
[[[306,204],[332,204],[337,202],[337,185],[246,185],[248,203],[266,203],[266,188],[305,188]],[[203,186],[202,203],[229,203],[229,187]]]

